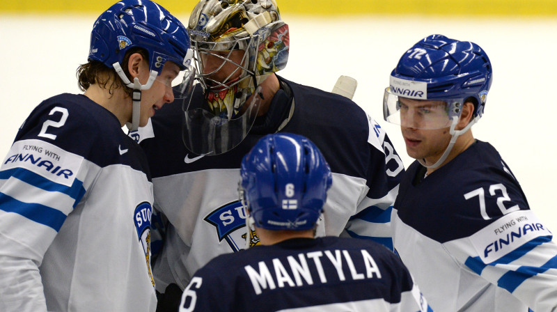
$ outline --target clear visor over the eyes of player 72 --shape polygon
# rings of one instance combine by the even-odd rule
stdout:
[[[462,101],[412,100],[399,97],[386,88],[383,98],[383,118],[389,123],[423,130],[450,127],[453,118],[460,118]]]

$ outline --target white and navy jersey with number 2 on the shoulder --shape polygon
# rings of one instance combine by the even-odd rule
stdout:
[[[0,167],[0,311],[155,311],[146,168],[86,96],[36,107]]]

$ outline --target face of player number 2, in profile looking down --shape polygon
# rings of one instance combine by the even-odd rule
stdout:
[[[161,109],[165,103],[173,102],[172,81],[178,76],[180,68],[170,61],[164,63],[160,75],[147,90],[141,91],[141,113],[139,126],[147,125],[149,118],[155,115],[157,109]],[[143,74],[143,72],[142,72]],[[139,77],[142,84],[145,84],[148,74]]]

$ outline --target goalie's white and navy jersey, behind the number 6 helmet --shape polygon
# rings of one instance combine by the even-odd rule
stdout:
[[[154,208],[169,221],[162,254],[153,267],[157,290],[164,292],[168,283],[178,283],[183,289],[191,274],[209,260],[244,248],[249,233],[237,193],[242,157],[258,139],[276,132],[292,108],[293,114],[281,132],[311,139],[333,172],[319,234],[382,236],[373,226],[343,231],[360,213],[383,211],[394,202],[404,166],[389,137],[351,100],[280,79],[290,98],[287,92],[278,91],[267,116],[256,120],[246,139],[227,153],[191,154],[182,142],[184,112],[173,103],[157,111],[151,118],[152,126],[130,134],[141,141],[148,157]],[[194,94],[197,97],[201,96],[199,89]],[[256,244],[257,237],[251,237],[251,243]],[[156,248],[153,245],[153,250]]]

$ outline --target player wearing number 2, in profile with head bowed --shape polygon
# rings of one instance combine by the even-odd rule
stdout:
[[[152,1],[119,1],[93,24],[84,94],[40,103],[0,167],[0,311],[155,311],[152,182],[122,127],[180,96],[192,53]]]

